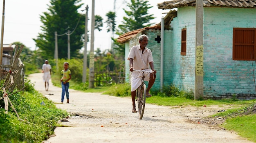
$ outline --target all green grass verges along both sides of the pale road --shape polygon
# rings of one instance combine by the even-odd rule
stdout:
[[[61,87],[58,78],[52,78],[56,86]],[[86,85],[81,86],[71,81],[70,89],[85,89]],[[82,87],[82,88],[81,88]],[[96,87],[94,89],[83,90],[83,92],[102,92],[112,96],[130,96],[130,85],[115,85],[111,87]],[[175,91],[177,92],[177,91]],[[156,92],[153,92],[156,93]],[[177,92],[182,93],[182,92]],[[158,94],[158,93],[157,93]],[[183,94],[183,93],[182,93]],[[34,90],[33,85],[27,85],[24,93],[17,93],[10,96],[13,106],[16,108],[20,119],[31,124],[18,120],[16,114],[9,108],[9,114],[4,114],[4,102],[0,100],[0,143],[39,143],[46,140],[58,125],[58,120],[68,115],[54,105],[53,102],[44,98],[43,95]],[[41,104],[44,102],[44,104]],[[155,95],[147,98],[147,103],[162,106],[207,106],[229,105],[233,109],[213,115],[212,117],[225,117],[227,120],[222,124],[227,130],[234,130],[241,137],[256,142],[255,102],[256,100],[191,100],[184,96],[166,96],[165,94]]]

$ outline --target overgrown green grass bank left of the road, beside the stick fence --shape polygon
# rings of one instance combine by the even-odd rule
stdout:
[[[0,143],[39,143],[52,135],[58,120],[67,117],[68,113],[56,108],[55,104],[34,90],[26,82],[24,92],[9,96],[20,119],[10,107],[4,113],[4,101],[0,100]],[[41,104],[44,102],[44,104]]]

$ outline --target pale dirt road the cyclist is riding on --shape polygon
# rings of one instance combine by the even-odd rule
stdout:
[[[146,104],[143,118],[132,113],[130,98],[101,93],[83,93],[70,89],[70,103],[61,102],[61,88],[45,91],[42,73],[31,74],[35,89],[71,117],[57,127],[56,136],[43,143],[252,143],[215,125],[222,119],[204,119],[225,108],[173,108]],[[64,103],[66,99],[64,100]]]

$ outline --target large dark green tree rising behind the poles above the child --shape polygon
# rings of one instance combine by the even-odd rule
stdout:
[[[76,57],[83,46],[84,16],[78,13],[81,0],[50,0],[49,12],[40,15],[43,23],[36,42],[44,58],[54,58],[55,31],[58,35],[74,31],[70,35],[70,56]],[[58,36],[58,57],[67,58],[67,35]]]

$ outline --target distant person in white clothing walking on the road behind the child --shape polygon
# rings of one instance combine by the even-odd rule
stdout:
[[[52,67],[48,63],[49,63],[48,60],[45,60],[45,63],[42,66],[43,81],[45,82],[45,91],[48,91],[49,80],[51,79],[51,75],[52,75]]]

